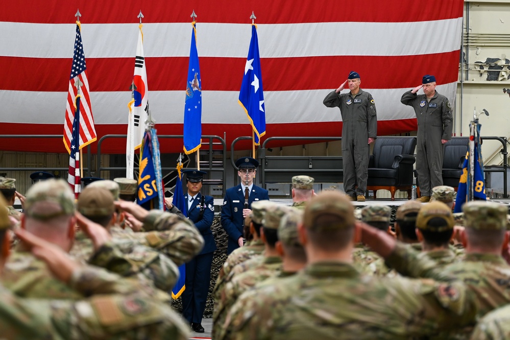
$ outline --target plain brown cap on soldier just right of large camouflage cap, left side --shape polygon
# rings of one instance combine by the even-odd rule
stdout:
[[[111,216],[115,211],[113,195],[104,188],[87,186],[78,197],[76,209],[87,217]]]

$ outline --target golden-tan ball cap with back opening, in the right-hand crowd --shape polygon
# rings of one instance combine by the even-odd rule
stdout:
[[[442,220],[434,219],[436,217]],[[416,227],[421,230],[440,233],[453,229],[453,225],[455,225],[455,220],[451,208],[440,201],[424,205],[416,217]]]

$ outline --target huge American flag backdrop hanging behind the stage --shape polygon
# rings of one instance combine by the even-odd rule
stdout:
[[[378,134],[416,130],[401,95],[435,75],[453,102],[462,32],[462,0],[347,2],[330,0],[177,1],[46,0],[6,2],[0,11],[0,134],[61,134],[69,84],[74,14],[82,13],[90,101],[98,140],[126,134],[129,86],[142,10],[151,112],[158,134],[182,134],[190,14],[198,15],[204,104],[202,133],[227,145],[251,136],[237,104],[251,37],[258,25],[266,135],[334,136],[340,112],[322,101],[351,70],[374,97]],[[65,152],[61,139],[0,140],[3,150]],[[95,149],[97,143],[93,143]],[[246,144],[247,148],[251,144]],[[161,143],[180,152],[182,143]],[[124,153],[125,141],[103,152]]]

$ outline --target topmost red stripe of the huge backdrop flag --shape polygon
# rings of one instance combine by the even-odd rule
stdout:
[[[87,24],[115,24],[138,22],[141,9],[143,23],[189,22],[195,10],[199,22],[246,24],[252,11],[257,24],[290,24],[294,22],[408,22],[441,20],[462,17],[463,0],[428,0],[426,6],[414,1],[364,0],[359,2],[331,2],[308,0],[298,3],[289,0],[170,2],[151,0],[89,0],[80,3],[83,22]],[[296,10],[296,6],[306,10]],[[34,22],[43,24],[71,24],[77,5],[72,1],[16,0],[5,2],[0,21]],[[41,15],[41,13],[45,13]]]

